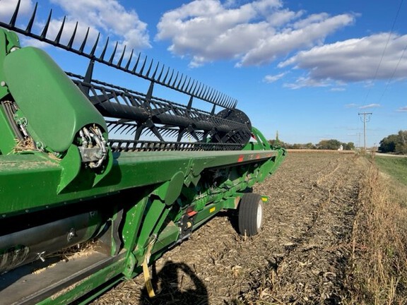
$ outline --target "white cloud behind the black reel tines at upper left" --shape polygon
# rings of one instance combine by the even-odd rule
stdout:
[[[13,14],[18,0],[0,0],[1,11],[0,20],[8,22]],[[60,42],[67,44],[72,37],[74,28],[76,28],[75,40],[73,47],[79,47],[86,32],[88,31],[87,46],[90,49],[93,43],[100,34],[100,47],[105,42],[106,37],[110,37],[110,47],[114,42],[118,42],[118,54],[126,46],[127,52],[131,49],[141,50],[151,47],[150,38],[148,35],[147,24],[138,18],[138,14],[134,10],[126,10],[117,0],[49,0],[54,6],[59,6],[66,19],[63,21],[61,14],[55,16],[53,14],[47,30],[47,38],[54,40],[64,22],[64,28],[61,32]],[[28,15],[33,13],[33,2],[31,0],[22,0],[18,16]],[[37,13],[33,31],[40,34],[44,28],[46,20],[40,18]],[[78,23],[78,25],[76,25]],[[27,20],[25,20],[25,25]],[[25,26],[23,25],[23,26]],[[25,44],[36,45],[42,47],[43,44],[31,39],[23,39]]]

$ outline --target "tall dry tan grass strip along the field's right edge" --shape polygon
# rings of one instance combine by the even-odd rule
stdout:
[[[407,304],[407,210],[389,183],[374,165],[361,182],[344,304]]]

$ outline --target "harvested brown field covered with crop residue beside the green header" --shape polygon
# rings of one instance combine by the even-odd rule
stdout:
[[[254,187],[270,198],[260,234],[220,214],[155,262],[156,297],[139,275],[92,304],[341,304],[362,168],[355,155],[289,154]]]

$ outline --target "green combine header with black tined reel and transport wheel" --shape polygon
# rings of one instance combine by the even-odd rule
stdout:
[[[125,48],[117,55],[117,44],[109,52],[108,38],[100,51],[100,35],[88,46],[89,30],[80,47],[77,28],[61,42],[64,22],[49,39],[51,13],[35,33],[37,5],[18,28],[19,4],[0,21],[1,304],[86,304],[147,274],[220,210],[238,210],[240,234],[261,230],[267,198],[251,189],[285,150],[269,145],[235,99]],[[84,75],[21,46],[18,35],[85,56]],[[143,78],[147,92],[96,79],[96,64]],[[156,86],[187,102],[155,96]],[[72,246],[86,255],[56,255]]]

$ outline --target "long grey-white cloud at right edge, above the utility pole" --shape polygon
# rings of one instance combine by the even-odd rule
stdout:
[[[389,36],[389,33],[380,33],[313,47],[278,66],[283,68],[295,65],[296,68],[309,71],[309,77],[314,80],[350,82],[406,78],[407,58],[400,61],[406,45],[407,35]],[[383,54],[385,47],[386,52]]]

